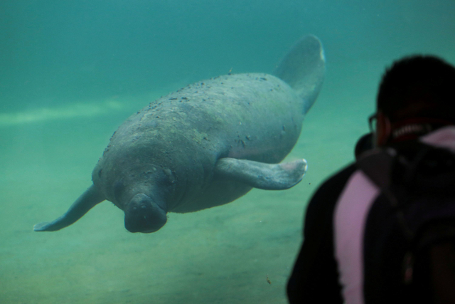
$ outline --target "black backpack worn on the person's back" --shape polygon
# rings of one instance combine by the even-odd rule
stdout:
[[[357,166],[380,188],[363,235],[365,303],[455,303],[455,154],[413,141]]]

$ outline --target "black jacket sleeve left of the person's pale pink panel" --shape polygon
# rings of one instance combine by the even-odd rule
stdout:
[[[343,303],[333,249],[333,212],[355,164],[319,187],[306,209],[304,243],[287,285],[289,303]]]

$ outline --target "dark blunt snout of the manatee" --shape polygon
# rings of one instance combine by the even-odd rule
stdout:
[[[166,211],[146,194],[133,196],[125,212],[125,228],[129,232],[150,233],[166,224]]]

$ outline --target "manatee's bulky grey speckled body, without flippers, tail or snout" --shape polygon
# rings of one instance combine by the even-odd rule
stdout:
[[[226,204],[251,187],[217,179],[217,160],[281,162],[303,119],[300,98],[272,75],[203,80],[129,117],[95,167],[93,183],[122,210],[139,189],[166,211]]]

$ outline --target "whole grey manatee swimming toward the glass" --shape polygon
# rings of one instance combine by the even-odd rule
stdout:
[[[280,162],[299,139],[324,74],[321,42],[306,36],[274,75],[223,75],[146,105],[114,132],[92,185],[63,216],[34,230],[63,229],[108,200],[124,211],[128,231],[150,233],[168,212],[227,204],[253,187],[293,187],[305,159]]]

